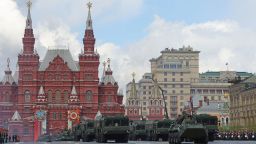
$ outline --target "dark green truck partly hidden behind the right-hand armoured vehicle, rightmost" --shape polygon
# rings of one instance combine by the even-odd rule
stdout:
[[[208,114],[196,115],[196,121],[203,124],[208,131],[208,140],[213,141],[218,133],[218,118]]]

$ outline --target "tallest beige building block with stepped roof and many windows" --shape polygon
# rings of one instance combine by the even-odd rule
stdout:
[[[166,48],[158,58],[150,60],[153,78],[165,90],[170,118],[181,114],[190,98],[191,83],[198,82],[199,53],[190,46]]]

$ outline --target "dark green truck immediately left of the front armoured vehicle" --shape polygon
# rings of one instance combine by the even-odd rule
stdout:
[[[174,121],[170,119],[164,119],[161,121],[154,121],[153,133],[151,134],[151,140],[153,141],[167,141],[169,135],[169,128]]]

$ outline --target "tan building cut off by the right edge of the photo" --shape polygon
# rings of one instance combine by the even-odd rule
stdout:
[[[230,91],[231,126],[256,130],[256,76],[236,82]]]

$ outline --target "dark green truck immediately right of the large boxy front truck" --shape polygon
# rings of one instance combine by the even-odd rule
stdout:
[[[130,140],[146,140],[147,133],[146,133],[146,121],[132,121],[130,125]]]

